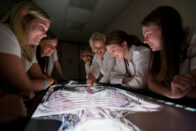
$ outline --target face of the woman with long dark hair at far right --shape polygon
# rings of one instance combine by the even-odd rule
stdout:
[[[148,44],[152,51],[160,51],[163,49],[160,26],[143,26],[142,31],[144,43]]]

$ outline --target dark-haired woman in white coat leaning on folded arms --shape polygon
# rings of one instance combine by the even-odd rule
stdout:
[[[136,36],[124,31],[117,30],[108,35],[106,48],[116,58],[110,77],[111,84],[134,89],[146,87],[150,49],[142,45]]]

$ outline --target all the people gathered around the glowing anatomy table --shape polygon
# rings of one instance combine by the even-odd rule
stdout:
[[[66,79],[55,50],[57,38],[48,33],[50,24],[49,16],[27,1],[17,4],[1,20],[0,123],[27,115],[24,101],[54,82],[53,65]],[[143,19],[142,31],[150,48],[124,31],[113,31],[107,37],[93,33],[89,40],[93,53],[82,54],[87,83],[99,81],[136,89],[147,85],[170,98],[195,98],[194,30],[184,30],[178,12],[162,6]]]

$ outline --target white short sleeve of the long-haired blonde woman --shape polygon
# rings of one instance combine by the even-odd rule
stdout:
[[[8,24],[0,23],[0,40],[0,53],[21,57],[20,45]]]

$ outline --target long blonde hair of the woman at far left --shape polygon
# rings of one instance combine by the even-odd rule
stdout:
[[[26,21],[25,24],[22,23],[22,13],[27,13],[24,18]],[[49,16],[43,9],[32,2],[23,1],[14,6],[8,14],[1,19],[1,22],[10,25],[13,33],[18,39],[22,58],[26,58],[29,61],[33,60],[36,50],[36,46],[28,43],[30,24],[35,18],[51,22]]]

